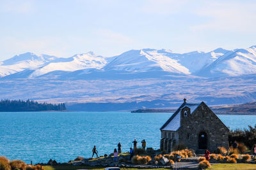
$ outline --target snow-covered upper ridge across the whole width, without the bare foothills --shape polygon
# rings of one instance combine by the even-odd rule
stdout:
[[[256,73],[256,46],[247,49],[225,50],[217,48],[211,52],[173,53],[171,50],[130,50],[115,57],[102,57],[93,52],[76,54],[69,58],[23,53],[0,62],[0,76],[21,73],[35,78],[58,71],[59,74],[84,70],[128,71],[145,73],[163,71],[204,77],[240,76]],[[26,71],[29,70],[29,71]],[[79,72],[81,73],[81,72]],[[102,73],[102,72],[101,72]],[[110,72],[109,72],[110,73]],[[75,72],[74,72],[75,74]],[[76,76],[76,75],[74,75]]]

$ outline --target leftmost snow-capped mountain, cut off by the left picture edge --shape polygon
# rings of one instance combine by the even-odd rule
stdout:
[[[35,53],[23,53],[15,55],[11,59],[4,60],[0,65],[0,76],[17,73],[25,69],[37,69],[57,59],[51,55],[36,55]]]

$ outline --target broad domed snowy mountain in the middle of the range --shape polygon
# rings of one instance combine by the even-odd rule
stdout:
[[[131,50],[116,56],[104,70],[122,71],[168,71],[172,73],[190,74],[189,69],[177,60],[159,53],[157,50]]]

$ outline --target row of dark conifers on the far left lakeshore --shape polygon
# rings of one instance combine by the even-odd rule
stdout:
[[[38,103],[37,101],[21,101],[21,100],[8,100],[2,99],[0,101],[0,111],[47,111],[56,110],[62,111],[66,110],[64,103],[51,104],[51,103]]]

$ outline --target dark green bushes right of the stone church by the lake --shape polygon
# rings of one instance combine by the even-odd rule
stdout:
[[[248,148],[252,148],[256,144],[256,125],[254,127],[248,126],[248,129],[236,129],[230,131],[228,134],[229,143],[237,141],[238,143],[244,143]]]

